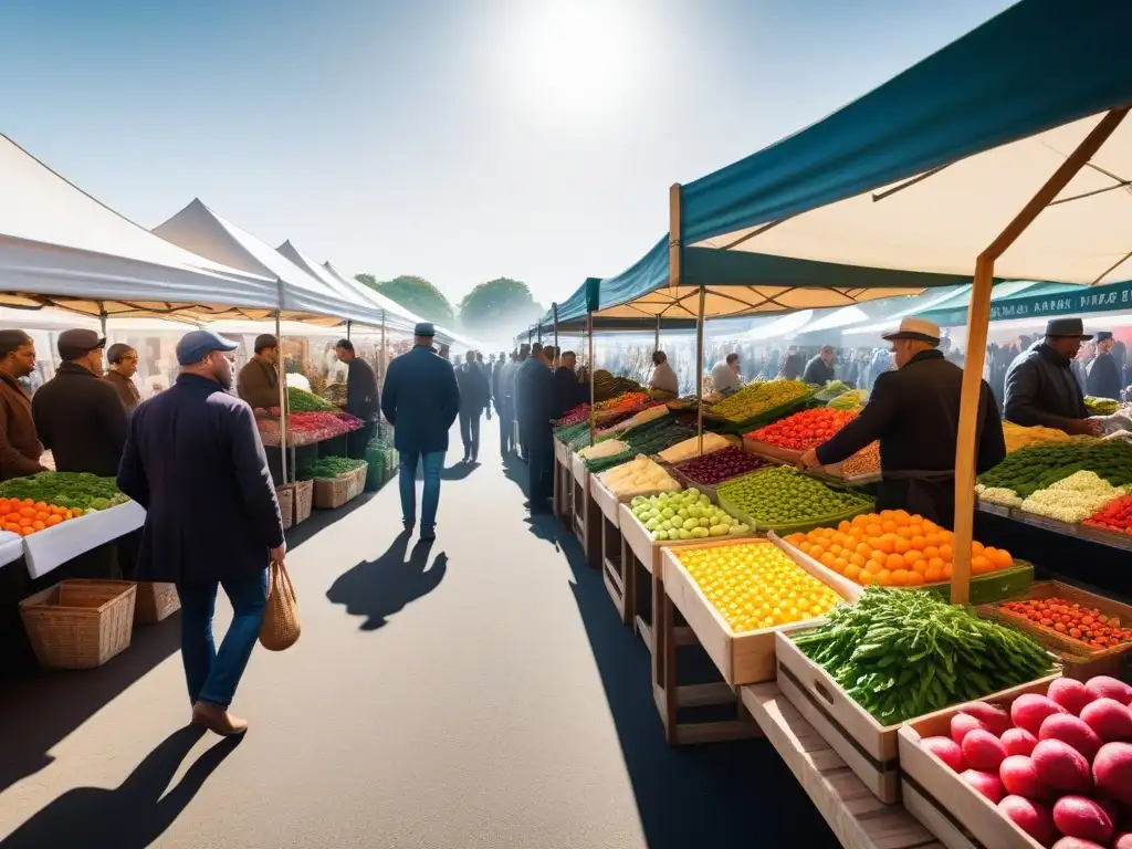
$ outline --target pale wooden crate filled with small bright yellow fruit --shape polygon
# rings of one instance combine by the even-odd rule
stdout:
[[[697,540],[694,549],[723,548],[726,546],[774,546],[769,540],[715,539],[710,542]],[[703,591],[680,564],[678,551],[663,552],[664,588],[676,609],[680,611],[700,644],[719,669],[723,680],[730,686],[760,684],[774,680],[774,634],[783,626],[760,628],[737,634],[709,601]],[[806,564],[799,564],[806,569]],[[814,574],[812,569],[806,569]],[[818,575],[814,575],[822,580]],[[843,578],[842,578],[843,581]],[[841,594],[839,588],[832,588]],[[847,601],[850,597],[842,594]]]

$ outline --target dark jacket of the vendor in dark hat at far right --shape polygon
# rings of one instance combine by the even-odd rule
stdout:
[[[1070,421],[1089,415],[1071,361],[1045,342],[1010,363],[1005,395],[1006,420],[1027,428],[1041,424],[1064,430]]]

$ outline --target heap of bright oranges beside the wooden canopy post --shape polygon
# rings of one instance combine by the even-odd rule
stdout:
[[[856,516],[837,528],[792,533],[787,542],[859,584],[920,586],[951,580],[954,535],[907,511]],[[1004,549],[971,543],[971,574],[1014,565]]]

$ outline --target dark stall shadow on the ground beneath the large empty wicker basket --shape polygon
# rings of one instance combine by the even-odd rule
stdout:
[[[60,740],[180,648],[181,616],[174,614],[139,628],[130,648],[105,666],[41,671],[0,688],[0,792],[48,766]]]

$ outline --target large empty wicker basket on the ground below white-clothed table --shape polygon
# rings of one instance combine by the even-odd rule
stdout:
[[[41,666],[92,669],[129,648],[136,598],[131,581],[61,581],[19,602],[19,615]]]

